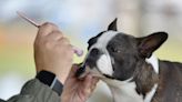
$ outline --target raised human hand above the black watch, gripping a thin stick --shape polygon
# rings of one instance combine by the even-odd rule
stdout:
[[[42,70],[54,73],[64,83],[73,62],[73,49],[53,23],[40,26],[34,41],[37,72]]]

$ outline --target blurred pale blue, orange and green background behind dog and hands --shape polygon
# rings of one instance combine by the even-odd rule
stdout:
[[[165,31],[169,39],[156,57],[182,62],[181,0],[0,0],[0,99],[19,93],[36,74],[33,40],[38,29],[19,18],[18,10],[39,23],[58,24],[84,52],[87,41],[114,18],[119,19],[119,31],[135,37]],[[74,57],[74,62],[83,58]],[[89,101],[111,100],[107,85],[100,82]]]

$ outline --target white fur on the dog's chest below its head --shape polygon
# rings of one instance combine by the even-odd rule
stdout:
[[[130,82],[130,80],[131,79],[121,82],[117,80],[103,79],[111,90],[114,102],[151,102],[158,84],[154,84],[151,91],[146,93],[143,99],[143,95],[135,91],[135,82]]]

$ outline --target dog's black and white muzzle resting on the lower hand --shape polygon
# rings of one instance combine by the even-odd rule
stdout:
[[[95,57],[87,57],[75,75],[79,79],[83,79],[87,74],[99,79],[114,79],[112,76],[112,68],[111,60],[107,54],[101,54],[98,59]]]

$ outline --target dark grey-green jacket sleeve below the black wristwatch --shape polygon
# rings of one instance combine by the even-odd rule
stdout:
[[[23,85],[20,94],[0,102],[60,102],[60,96],[48,85],[33,79]]]

